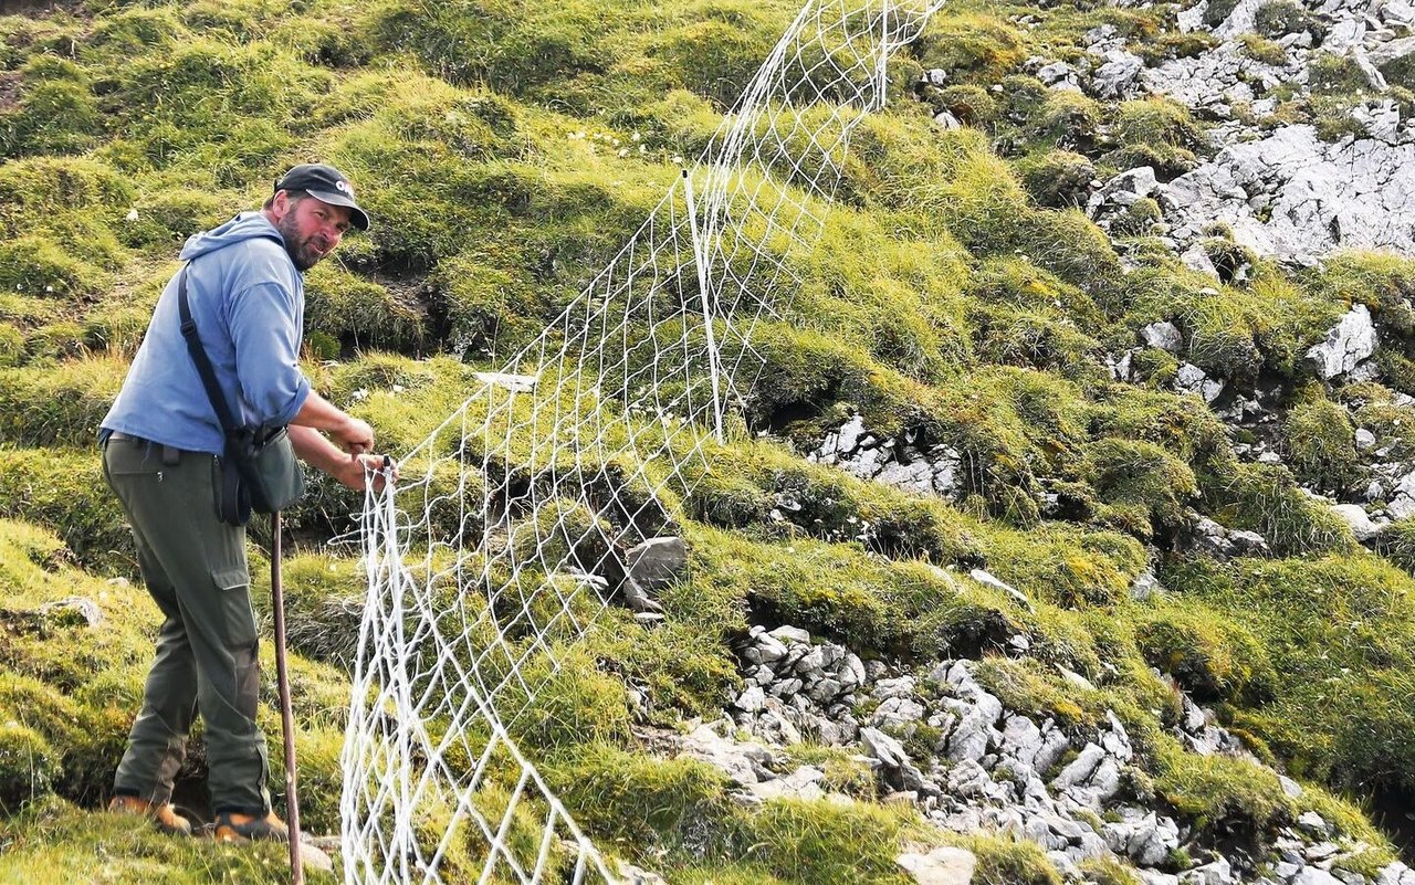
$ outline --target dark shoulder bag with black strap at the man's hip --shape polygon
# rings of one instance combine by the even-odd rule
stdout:
[[[290,434],[282,427],[236,424],[226,404],[226,397],[216,383],[197,324],[191,318],[191,304],[187,301],[187,267],[177,280],[177,308],[181,314],[181,336],[187,339],[187,352],[197,366],[207,399],[221,421],[225,433],[225,455],[221,458],[221,495],[216,503],[221,522],[243,526],[256,513],[275,513],[290,506],[304,495],[304,471],[294,458]]]

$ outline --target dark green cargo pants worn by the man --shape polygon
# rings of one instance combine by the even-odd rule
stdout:
[[[216,458],[110,438],[103,475],[133,526],[147,592],[166,616],[113,792],[168,802],[200,711],[212,810],[265,814],[270,763],[256,727],[260,662],[246,530],[216,519]]]

